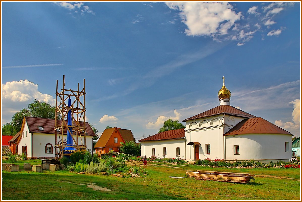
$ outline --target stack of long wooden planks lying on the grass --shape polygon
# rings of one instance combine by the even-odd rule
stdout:
[[[197,172],[188,171],[186,175],[203,180],[236,182],[236,183],[248,183],[251,179],[255,179],[252,174],[249,173],[236,173],[236,172],[215,172],[198,170]]]

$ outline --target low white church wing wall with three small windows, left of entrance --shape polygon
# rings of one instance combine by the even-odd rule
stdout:
[[[167,156],[163,156],[163,148],[167,149]],[[180,155],[176,156],[176,148],[179,147]],[[143,141],[140,144],[140,152],[142,156],[153,156],[153,148],[158,158],[176,158],[184,157],[185,159],[185,139],[175,140],[159,140],[159,141]]]

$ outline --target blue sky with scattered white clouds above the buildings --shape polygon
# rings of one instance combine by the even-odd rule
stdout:
[[[2,125],[63,74],[100,134],[216,107],[224,76],[232,106],[300,136],[300,2],[2,2]]]

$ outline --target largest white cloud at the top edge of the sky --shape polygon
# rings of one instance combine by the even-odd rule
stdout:
[[[166,5],[179,13],[188,29],[188,36],[224,35],[242,16],[233,11],[227,2],[166,2]]]

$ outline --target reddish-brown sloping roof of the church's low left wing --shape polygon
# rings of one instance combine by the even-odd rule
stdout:
[[[185,129],[177,129],[177,130],[168,130],[161,133],[157,133],[153,136],[146,137],[144,139],[139,140],[139,142],[143,141],[154,141],[154,140],[167,140],[167,139],[179,139],[185,137]]]

